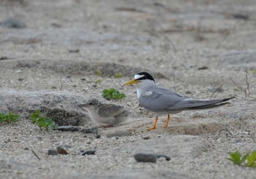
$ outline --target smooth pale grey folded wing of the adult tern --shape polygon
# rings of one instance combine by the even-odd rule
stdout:
[[[171,110],[176,103],[189,99],[178,95],[176,92],[161,87],[151,88],[148,92],[151,92],[151,95],[141,96],[139,98],[139,103],[148,111],[153,112]]]

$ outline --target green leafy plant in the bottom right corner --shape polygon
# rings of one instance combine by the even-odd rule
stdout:
[[[256,151],[252,151],[251,154],[244,154],[244,156],[239,152],[230,152],[228,160],[234,164],[238,164],[244,167],[256,167]]]

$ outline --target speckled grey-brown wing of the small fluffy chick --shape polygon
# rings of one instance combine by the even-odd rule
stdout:
[[[99,116],[110,117],[121,114],[124,111],[124,106],[119,106],[115,104],[105,104],[99,107]]]

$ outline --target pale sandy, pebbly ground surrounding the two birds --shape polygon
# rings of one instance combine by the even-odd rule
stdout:
[[[24,118],[1,124],[0,178],[255,178],[255,169],[226,157],[255,151],[256,1],[3,0],[0,15],[1,88],[100,96],[116,87],[127,95],[118,103],[138,114],[99,129],[100,138],[39,130]],[[5,27],[9,18],[26,27]],[[122,86],[140,71],[182,95],[236,99],[148,132],[154,115]],[[48,156],[57,146],[69,154]],[[82,156],[89,150],[96,154]],[[171,160],[138,163],[138,152]]]

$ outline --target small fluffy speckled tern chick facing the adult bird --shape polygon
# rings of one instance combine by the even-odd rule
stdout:
[[[132,111],[129,111],[125,106],[102,103],[97,99],[91,99],[79,107],[86,108],[94,122],[108,124],[108,126],[104,127],[120,124],[132,114]]]

